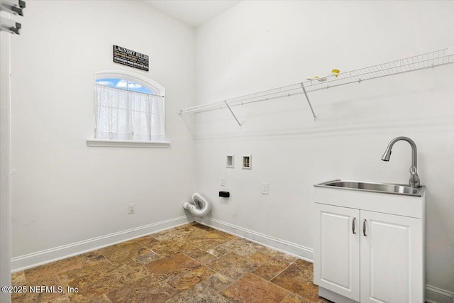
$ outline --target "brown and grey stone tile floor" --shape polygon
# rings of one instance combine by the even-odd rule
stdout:
[[[55,291],[16,293],[12,301],[329,302],[312,277],[312,263],[194,222],[16,272],[13,285]]]

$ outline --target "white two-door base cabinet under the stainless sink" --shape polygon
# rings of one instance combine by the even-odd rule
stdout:
[[[424,196],[404,196],[399,203],[401,197],[393,194],[318,187],[315,192],[314,283],[321,297],[423,303]],[[367,203],[355,202],[358,198]],[[373,206],[380,201],[387,209]],[[407,206],[411,216],[405,216]]]

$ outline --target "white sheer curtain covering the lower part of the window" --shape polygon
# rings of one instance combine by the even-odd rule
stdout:
[[[101,84],[95,94],[95,138],[165,141],[163,97]]]

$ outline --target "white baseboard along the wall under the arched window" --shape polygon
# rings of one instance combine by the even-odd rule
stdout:
[[[92,250],[111,246],[116,243],[131,240],[133,238],[147,236],[150,233],[157,233],[158,231],[173,228],[182,224],[187,224],[192,221],[194,221],[194,218],[192,216],[179,216],[177,218],[160,221],[145,226],[139,226],[127,229],[125,231],[118,231],[117,233],[110,233],[109,235],[91,238],[89,240],[70,243],[64,246],[50,248],[48,250],[41,250],[36,253],[30,253],[28,255],[21,255],[11,259],[11,271],[18,272],[21,270],[26,270],[28,268],[34,268],[38,265],[62,260],[74,255],[79,255],[81,253],[87,253]]]

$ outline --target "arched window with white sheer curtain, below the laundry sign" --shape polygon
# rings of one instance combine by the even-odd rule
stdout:
[[[95,73],[94,138],[111,141],[165,141],[165,89],[134,72]]]

